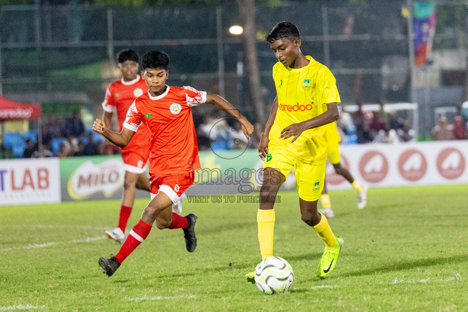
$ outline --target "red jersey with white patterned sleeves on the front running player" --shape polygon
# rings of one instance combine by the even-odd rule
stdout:
[[[144,123],[149,130],[150,174],[186,174],[200,168],[191,107],[205,101],[205,91],[166,86],[159,96],[148,91],[133,102],[124,127],[137,131]]]

